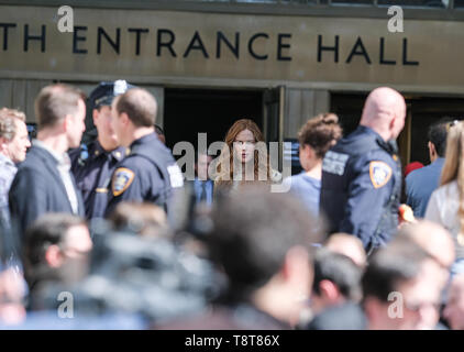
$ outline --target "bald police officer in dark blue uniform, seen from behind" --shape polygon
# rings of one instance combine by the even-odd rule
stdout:
[[[320,209],[329,233],[356,235],[367,253],[387,243],[397,229],[401,166],[395,140],[405,117],[399,92],[374,89],[360,127],[323,160]]]

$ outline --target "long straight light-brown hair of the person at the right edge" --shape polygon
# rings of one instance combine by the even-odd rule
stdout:
[[[464,245],[464,123],[451,122],[449,124],[445,160],[441,174],[441,186],[452,182],[457,183],[460,191],[460,234],[457,241]]]

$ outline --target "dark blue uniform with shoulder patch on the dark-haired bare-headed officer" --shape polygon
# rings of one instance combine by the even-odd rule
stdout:
[[[183,185],[180,168],[170,151],[151,133],[134,141],[129,155],[118,164],[106,216],[121,201],[153,202],[169,216],[174,188]]]

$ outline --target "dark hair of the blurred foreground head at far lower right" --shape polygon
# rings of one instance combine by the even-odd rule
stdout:
[[[431,256],[410,239],[391,242],[372,256],[362,278],[363,298],[388,301],[388,295],[398,290],[398,285],[418,276],[428,258]]]

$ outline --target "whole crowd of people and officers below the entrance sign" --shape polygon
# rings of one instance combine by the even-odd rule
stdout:
[[[237,119],[188,179],[156,114],[125,80],[44,87],[32,141],[0,110],[0,328],[464,329],[462,122],[405,179],[405,99],[380,87],[350,134],[308,119],[299,175]]]

